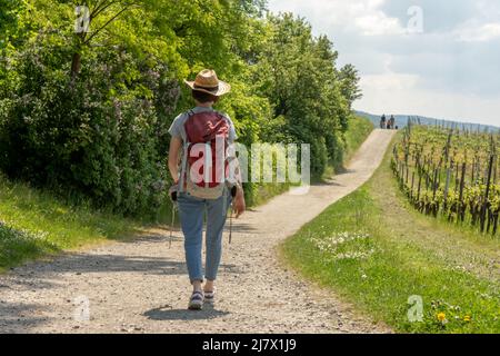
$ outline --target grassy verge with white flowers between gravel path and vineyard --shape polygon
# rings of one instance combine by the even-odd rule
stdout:
[[[369,182],[288,239],[282,257],[396,332],[500,333],[500,240],[411,209],[389,152]]]

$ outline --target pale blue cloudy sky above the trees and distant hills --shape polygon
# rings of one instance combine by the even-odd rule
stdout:
[[[500,126],[499,0],[268,0],[354,65],[354,109]]]

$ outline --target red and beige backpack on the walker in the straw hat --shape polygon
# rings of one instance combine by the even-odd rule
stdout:
[[[229,120],[217,111],[190,111],[184,130],[181,190],[202,199],[218,199],[226,187]]]

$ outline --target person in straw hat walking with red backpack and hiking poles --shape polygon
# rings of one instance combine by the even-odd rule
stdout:
[[[246,204],[238,159],[227,157],[228,145],[237,139],[234,125],[227,115],[212,108],[231,87],[209,69],[198,73],[194,81],[184,82],[192,89],[196,107],[179,115],[169,129],[172,136],[169,170],[174,181],[169,194],[179,206],[186,261],[193,286],[188,308],[201,309],[204,300],[213,300],[214,297],[228,207],[232,201],[238,218],[244,212]],[[208,158],[209,165],[206,165],[207,157],[212,158],[211,164]],[[237,167],[236,172],[228,176],[228,167],[231,166]],[[208,171],[204,171],[206,168]],[[204,212],[207,256],[203,275],[201,247]]]

